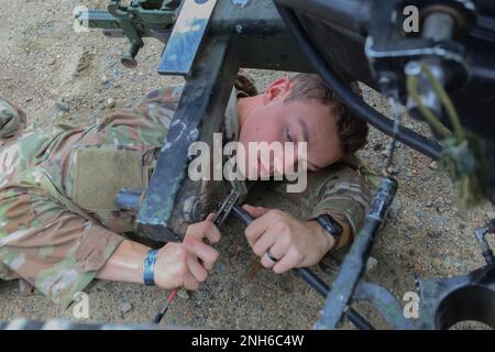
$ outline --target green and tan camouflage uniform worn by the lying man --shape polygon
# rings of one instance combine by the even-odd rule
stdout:
[[[66,307],[95,278],[121,234],[136,231],[134,215],[113,199],[120,188],[147,186],[180,92],[152,91],[89,128],[36,131],[22,129],[24,113],[0,99],[0,279],[23,278]],[[226,131],[235,136],[232,106]],[[343,164],[309,173],[307,191],[289,196],[309,210],[305,219],[331,212],[353,231],[370,201],[364,178]]]

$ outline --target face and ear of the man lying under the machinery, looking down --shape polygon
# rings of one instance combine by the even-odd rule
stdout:
[[[297,154],[301,151],[297,147],[299,142],[307,142],[306,161],[309,170],[321,169],[342,157],[337,123],[330,107],[317,100],[285,103],[284,99],[290,89],[288,78],[277,79],[263,95],[256,97],[256,103],[241,122],[240,142],[246,150],[245,166],[252,172],[251,175],[286,174],[287,169],[297,168]],[[250,142],[294,142],[296,152],[274,148],[270,153],[270,160],[261,155],[250,157]]]

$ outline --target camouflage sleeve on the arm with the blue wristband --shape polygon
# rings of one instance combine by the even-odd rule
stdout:
[[[63,307],[95,278],[122,240],[24,188],[0,194],[0,279],[23,278]]]

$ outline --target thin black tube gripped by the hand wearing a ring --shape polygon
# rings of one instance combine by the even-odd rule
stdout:
[[[249,226],[253,222],[253,218],[242,209],[241,206],[234,205],[232,207],[233,215],[241,220],[245,226]],[[330,292],[330,287],[307,267],[297,267],[294,271],[299,275],[306,283],[309,284],[312,288],[315,288],[323,298],[327,297]],[[351,321],[358,329],[360,330],[374,330],[375,328],[358,311],[355,311],[352,307],[349,307],[346,311],[346,317],[349,321]]]

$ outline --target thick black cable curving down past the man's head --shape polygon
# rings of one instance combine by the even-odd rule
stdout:
[[[306,58],[315,67],[316,72],[321,76],[324,82],[333,89],[343,103],[345,103],[354,113],[377,130],[387,135],[393,135],[394,121],[370,107],[338,77],[338,75],[321,56],[319,51],[315,47],[315,44],[304,30],[294,10],[276,2],[275,7],[277,8],[288,32],[294,36]],[[438,160],[440,157],[441,147],[437,142],[431,141],[410,129],[400,127],[397,134],[397,140],[425,154],[426,156],[431,157],[432,160]]]

